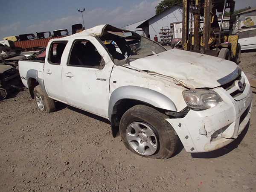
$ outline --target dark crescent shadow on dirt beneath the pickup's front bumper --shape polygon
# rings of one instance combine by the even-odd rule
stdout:
[[[244,131],[241,132],[239,137],[234,140],[232,143],[228,144],[227,146],[220,148],[215,151],[211,152],[206,152],[206,153],[192,153],[191,156],[193,158],[206,158],[206,159],[211,159],[211,158],[217,158],[221,157],[230,151],[233,151],[235,148],[238,147],[238,145],[241,143],[241,141],[244,139],[244,136],[246,135],[248,128],[249,128],[250,122],[247,123],[246,127],[244,128]]]

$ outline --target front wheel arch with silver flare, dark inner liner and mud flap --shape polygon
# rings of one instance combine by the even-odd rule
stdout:
[[[155,90],[137,86],[119,87],[111,94],[108,106],[108,117],[113,137],[119,130],[119,121],[122,115],[134,105],[147,105],[158,110],[177,111],[171,99]]]

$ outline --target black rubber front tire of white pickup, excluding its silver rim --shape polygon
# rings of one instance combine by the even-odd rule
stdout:
[[[145,105],[135,105],[130,108],[122,116],[119,126],[120,135],[126,148],[143,157],[156,159],[168,159],[169,157],[172,157],[177,150],[178,137],[172,126],[165,120],[166,118],[168,118],[168,116],[165,114]],[[150,156],[140,154],[128,143],[126,130],[128,129],[128,126],[134,122],[143,122],[151,125],[151,128],[157,137],[157,143],[159,143],[154,154]]]

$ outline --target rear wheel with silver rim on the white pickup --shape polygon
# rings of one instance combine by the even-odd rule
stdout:
[[[49,98],[47,93],[38,85],[34,89],[35,102],[40,111],[51,113],[56,110],[55,102]]]

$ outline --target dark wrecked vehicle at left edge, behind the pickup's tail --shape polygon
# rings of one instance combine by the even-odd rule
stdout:
[[[19,72],[11,65],[0,64],[0,101],[18,89]]]

